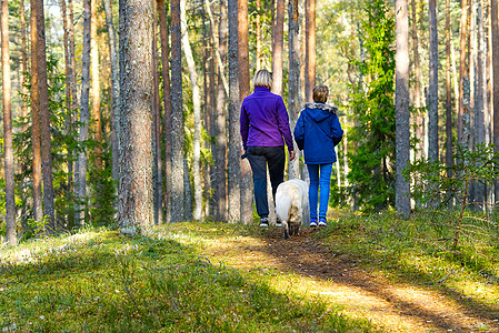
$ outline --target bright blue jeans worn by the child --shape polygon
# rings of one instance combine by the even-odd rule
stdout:
[[[309,203],[310,218],[317,219],[317,202],[319,201],[319,218],[326,218],[329,205],[329,189],[332,164],[307,164],[310,176]],[[319,175],[320,174],[320,175]]]

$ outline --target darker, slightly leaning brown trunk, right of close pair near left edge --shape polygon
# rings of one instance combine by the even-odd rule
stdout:
[[[49,110],[49,87],[47,82],[47,54],[43,2],[37,1],[37,32],[38,32],[38,73],[40,89],[40,141],[41,141],[41,168],[43,172],[43,212],[50,219],[49,228],[56,230],[56,215],[53,206],[53,182],[52,182],[52,155],[51,155],[51,131]]]

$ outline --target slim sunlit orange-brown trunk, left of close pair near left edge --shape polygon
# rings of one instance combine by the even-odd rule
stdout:
[[[33,147],[33,219],[43,218],[41,195],[40,89],[38,74],[37,0],[31,0],[31,132]]]

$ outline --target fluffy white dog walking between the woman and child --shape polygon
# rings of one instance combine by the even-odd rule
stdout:
[[[276,214],[282,222],[285,240],[297,235],[300,224],[310,222],[308,185],[299,179],[281,183],[276,193]]]

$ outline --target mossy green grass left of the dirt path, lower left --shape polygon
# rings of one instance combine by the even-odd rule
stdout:
[[[148,236],[89,229],[0,250],[2,332],[373,332],[367,321],[256,273],[211,263],[203,239],[250,235],[178,223]],[[253,274],[253,275],[250,275]]]

